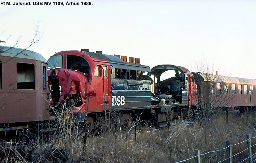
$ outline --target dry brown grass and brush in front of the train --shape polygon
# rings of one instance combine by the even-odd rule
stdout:
[[[85,137],[67,125],[52,133],[49,139],[0,143],[0,162],[101,162],[101,163],[163,163],[177,162],[194,156],[194,149],[201,153],[225,147],[246,139],[246,134],[256,135],[255,113],[230,116],[226,124],[224,115],[215,116],[211,122],[191,126],[176,122],[160,131],[141,131],[123,139],[127,130],[120,131],[115,125],[101,129],[98,136]],[[139,128],[137,130],[140,130]],[[121,133],[122,132],[122,136]],[[132,129],[131,132],[134,132]],[[86,139],[86,141],[84,141]],[[85,144],[84,144],[85,142]],[[252,144],[256,141],[252,139]],[[233,154],[246,148],[246,143],[233,146]],[[255,147],[254,147],[255,148]],[[253,148],[253,153],[256,152]],[[203,162],[218,162],[224,159],[225,150],[202,156]],[[233,158],[239,162],[246,157],[242,153]],[[187,162],[191,162],[187,161]]]

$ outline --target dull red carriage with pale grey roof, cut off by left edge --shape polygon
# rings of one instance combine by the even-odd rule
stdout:
[[[0,131],[49,119],[46,67],[38,53],[0,46]]]

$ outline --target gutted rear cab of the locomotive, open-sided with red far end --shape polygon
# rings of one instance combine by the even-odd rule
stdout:
[[[197,85],[193,74],[186,68],[158,65],[148,73],[153,76],[153,92],[159,99],[185,105],[197,104]]]

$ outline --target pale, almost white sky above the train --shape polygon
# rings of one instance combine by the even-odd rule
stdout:
[[[6,1],[4,1],[6,3]],[[11,4],[18,1],[10,1]],[[20,0],[19,2],[33,1]],[[39,22],[41,39],[28,50],[46,59],[64,50],[101,50],[197,71],[195,61],[219,74],[256,79],[256,1],[91,0],[93,5],[2,5],[3,46],[26,48]]]

